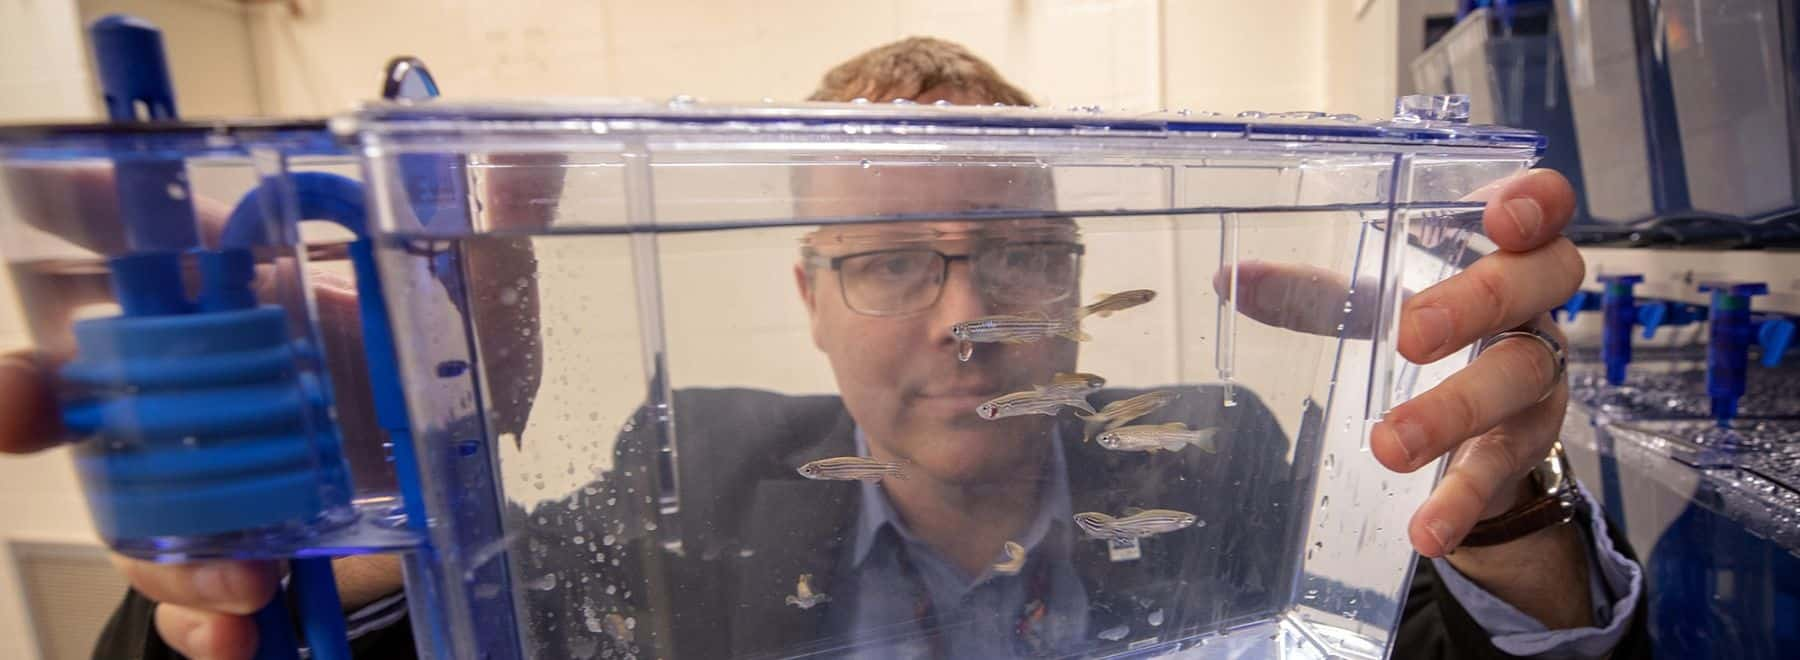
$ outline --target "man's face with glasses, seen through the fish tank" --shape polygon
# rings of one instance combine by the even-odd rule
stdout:
[[[1035,167],[875,169],[808,174],[808,189],[824,194],[812,196],[803,212],[954,216],[974,209],[1042,207],[1040,198],[1049,194],[1046,185],[1021,183],[1026,169],[1042,178]],[[796,281],[812,317],[814,343],[830,360],[844,405],[869,437],[873,453],[911,460],[925,477],[954,484],[1039,475],[1035,466],[1048,450],[1051,417],[986,421],[976,415],[976,408],[995,396],[1048,383],[1058,370],[1075,370],[1075,342],[1051,336],[1031,343],[981,343],[968,361],[959,361],[959,342],[950,336],[950,326],[988,315],[1071,315],[1078,304],[1073,268],[1066,277],[1067,293],[1053,300],[1008,295],[995,282],[1006,277],[1003,264],[1024,263],[1037,254],[1037,246],[1075,243],[1075,227],[1067,219],[826,227],[812,236],[819,259],[810,270],[796,266]],[[828,264],[832,257],[882,250],[950,255],[936,302],[927,293],[923,302],[913,299],[913,304],[884,306],[862,286],[916,266],[864,263],[859,257],[841,259],[839,268]],[[977,257],[954,259],[958,255]],[[943,261],[923,263],[927,281],[938,282],[934,268]]]

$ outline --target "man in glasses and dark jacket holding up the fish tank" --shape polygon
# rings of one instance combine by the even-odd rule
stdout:
[[[824,101],[853,97],[1028,103],[986,63],[932,40],[859,56],[828,74],[815,94]],[[839,212],[830,200],[866,205],[873,198],[905,205],[887,210],[959,212],[1008,205],[983,196],[1042,194],[1026,185],[985,185],[979,176],[918,176],[896,185],[929,194],[817,194],[817,207],[803,203],[801,210],[832,216]],[[833,182],[821,174],[801,185],[830,189]],[[1409,360],[1436,360],[1532,322],[1579,282],[1579,257],[1555,237],[1571,207],[1559,176],[1512,180],[1492,198],[1485,227],[1503,252],[1406,304],[1400,351]],[[1265,507],[1292,496],[1283,482],[1292,478],[1285,446],[1233,446],[1215,457],[1190,450],[1152,460],[1082,442],[1084,430],[1067,417],[986,421],[972,414],[995,392],[1046,383],[1075,365],[1076,345],[1064,340],[981,345],[968,363],[956,358],[958,345],[945,333],[952,322],[1019,308],[1066,313],[1078,304],[1049,295],[1003,297],[983,286],[1010,273],[1008,259],[985,255],[1021,245],[1035,246],[1021,254],[1024,263],[1048,264],[1058,245],[1078,245],[1078,236],[1060,221],[815,232],[796,266],[796,284],[814,343],[832,363],[842,396],[677,392],[684,437],[711,439],[711,451],[682,455],[682,513],[661,522],[677,523],[679,534],[626,525],[652,516],[630,500],[605,504],[657,486],[657,469],[650,469],[657,444],[641,433],[621,439],[616,469],[592,489],[531,513],[513,511],[509,525],[526,532],[526,552],[513,552],[517,574],[563,581],[562,588],[524,590],[527,649],[540,656],[635,649],[706,658],[1103,653],[1157,629],[1271,611],[1283,597],[1278,590],[1291,584],[1282,574],[1289,568],[1269,552],[1282,547],[1278,534],[1291,522],[1280,507]],[[925,273],[936,266],[941,277],[868,286],[857,261],[896,248],[913,250],[925,259]],[[1255,300],[1258,288],[1298,286],[1303,277],[1296,275],[1303,272],[1271,268],[1246,277],[1240,293]],[[1499,342],[1375,428],[1372,450],[1395,469],[1417,469],[1454,451],[1451,471],[1409,529],[1415,547],[1436,559],[1420,563],[1397,656],[1642,653],[1636,568],[1598,541],[1606,532],[1597,516],[1445,557],[1478,520],[1526,498],[1523,475],[1544,455],[1562,419],[1564,388],[1553,383],[1546,360],[1530,340]],[[43,444],[54,437],[45,374],[25,361],[5,365],[0,387],[16,394],[0,401],[13,406],[0,410],[13,424],[0,439],[14,450]],[[1100,392],[1091,403],[1130,394]],[[1219,388],[1186,388],[1179,405],[1141,423],[1184,421],[1219,430],[1219,439],[1287,437],[1255,397],[1238,392],[1237,403],[1226,406]],[[808,480],[796,471],[817,459],[857,455],[896,462],[907,478],[871,486]],[[1183,486],[1244,475],[1260,478],[1229,496]],[[1073,523],[1075,513],[1118,516],[1150,505],[1210,523],[1145,538],[1120,549],[1139,557],[1120,561],[1111,543],[1085,540]],[[625,536],[617,547],[605,543],[610,552],[569,549],[578,531],[607,534],[605,525]],[[680,541],[680,552],[666,550],[670,540]],[[1024,549],[1015,574],[992,566],[1008,561],[1008,541]],[[173,647],[189,656],[247,656],[254,628],[241,615],[266,601],[268,566],[126,566],[137,592],[103,653],[166,655]],[[805,588],[801,575],[812,575]],[[362,577],[349,575],[360,590],[346,593],[396,584],[391,572]],[[1190,577],[1202,583],[1183,583]],[[153,631],[144,595],[162,602]],[[796,597],[796,606],[783,595]],[[657,601],[662,597],[675,601]],[[403,624],[362,635],[356,644],[369,656],[410,647]]]

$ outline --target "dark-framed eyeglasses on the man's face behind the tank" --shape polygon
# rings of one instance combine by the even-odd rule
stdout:
[[[898,317],[938,304],[952,261],[968,261],[976,288],[992,304],[1067,300],[1080,284],[1084,252],[1080,243],[1069,241],[1008,241],[979,245],[970,254],[909,246],[812,259],[837,272],[839,293],[851,311]]]

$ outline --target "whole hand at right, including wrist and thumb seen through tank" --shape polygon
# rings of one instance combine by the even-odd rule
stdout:
[[[1553,171],[1530,171],[1472,196],[1487,200],[1481,227],[1499,250],[1462,273],[1406,300],[1399,351],[1415,363],[1456,354],[1487,336],[1548,322],[1580,286],[1580,254],[1561,237],[1575,191]],[[1231,273],[1213,288],[1231,297]],[[1352,300],[1350,291],[1357,291]],[[1282,263],[1237,264],[1237,309],[1258,322],[1314,334],[1368,338],[1379,286],[1352,288],[1336,272]],[[1345,302],[1355,309],[1345,318]],[[1375,424],[1370,450],[1382,466],[1415,471],[1449,455],[1449,469],[1413,513],[1408,536],[1429,557],[1444,557],[1465,577],[1550,628],[1591,624],[1588,561],[1573,525],[1510,543],[1451,554],[1476,522],[1505,513],[1528,493],[1525,478],[1562,428],[1568,387],[1555,361],[1532,338],[1508,338],[1469,367],[1415,396]]]

